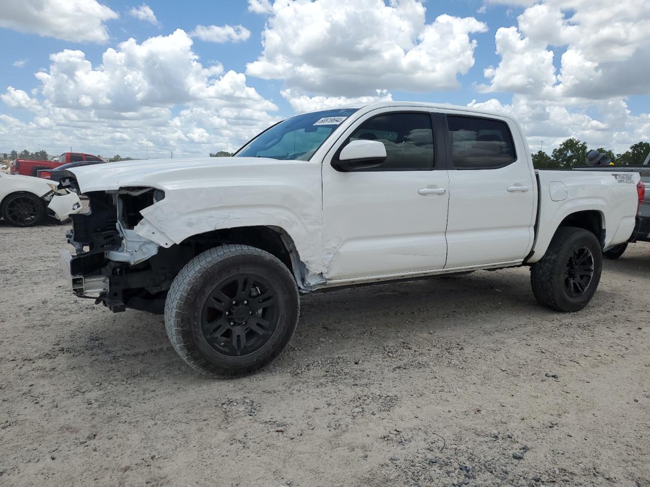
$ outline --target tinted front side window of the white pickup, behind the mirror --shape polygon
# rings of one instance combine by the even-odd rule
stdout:
[[[378,140],[386,148],[386,160],[369,171],[428,171],[434,168],[434,134],[428,113],[379,115],[359,125],[352,140]],[[344,145],[343,145],[344,147]]]

